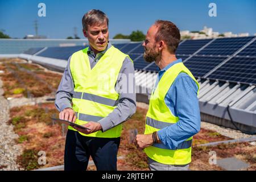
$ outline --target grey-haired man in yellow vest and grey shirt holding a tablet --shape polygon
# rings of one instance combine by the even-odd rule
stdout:
[[[108,24],[100,10],[82,17],[89,47],[69,57],[57,89],[59,118],[87,128],[68,127],[65,170],[86,170],[90,156],[97,170],[117,170],[121,123],[136,110],[133,61],[109,43]]]

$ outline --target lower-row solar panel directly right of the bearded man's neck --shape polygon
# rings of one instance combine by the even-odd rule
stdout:
[[[225,59],[226,57],[218,56],[193,56],[184,64],[193,76],[202,77]]]

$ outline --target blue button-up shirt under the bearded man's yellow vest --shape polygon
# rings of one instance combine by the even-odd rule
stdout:
[[[182,60],[178,59],[160,70],[155,87],[167,69],[181,62]],[[201,119],[197,89],[196,82],[187,73],[180,73],[164,98],[171,113],[179,117],[177,123],[158,131],[159,139],[171,150],[175,150],[178,144],[200,131]]]

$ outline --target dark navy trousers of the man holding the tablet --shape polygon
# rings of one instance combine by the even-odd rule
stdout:
[[[85,137],[77,131],[68,130],[64,170],[86,170],[92,156],[98,171],[116,171],[119,144],[120,138]]]

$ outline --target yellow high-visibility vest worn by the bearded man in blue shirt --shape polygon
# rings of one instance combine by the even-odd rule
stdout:
[[[196,82],[198,94],[199,84],[183,63],[174,64],[171,68],[167,69],[151,94],[144,134],[159,131],[179,121],[179,118],[171,113],[164,102],[164,98],[175,78],[181,72],[187,73]],[[170,150],[163,143],[154,143],[152,146],[144,148],[144,152],[146,152],[149,158],[162,164],[184,165],[191,162],[191,146],[192,137],[180,143],[174,150]]]

